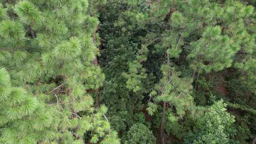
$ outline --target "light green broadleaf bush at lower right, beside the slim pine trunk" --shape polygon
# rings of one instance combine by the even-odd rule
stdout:
[[[197,129],[190,140],[193,144],[230,144],[235,134],[232,127],[234,116],[227,112],[222,100],[205,109],[205,113],[197,120]],[[190,142],[187,142],[190,144]]]

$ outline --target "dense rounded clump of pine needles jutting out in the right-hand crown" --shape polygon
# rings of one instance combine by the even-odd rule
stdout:
[[[207,27],[201,39],[191,44],[194,48],[188,58],[196,61],[195,64],[192,64],[194,69],[199,68],[210,72],[211,70],[220,71],[231,66],[231,57],[236,54],[238,48],[230,45],[232,42],[228,36],[220,36],[220,34],[220,27]],[[202,60],[210,61],[209,65],[202,63]]]

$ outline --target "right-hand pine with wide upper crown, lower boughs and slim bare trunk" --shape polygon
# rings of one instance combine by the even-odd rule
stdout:
[[[163,101],[163,114],[160,127],[161,144],[164,143],[163,131],[167,102],[175,107],[176,113],[180,116],[184,114],[184,112],[179,112],[179,109],[193,109],[191,91],[197,88],[199,74],[220,71],[224,68],[231,67],[235,54],[241,49],[241,45],[246,43],[249,49],[254,45],[254,39],[248,35],[245,23],[242,22],[243,19],[249,18],[250,15],[252,15],[253,8],[251,6],[245,6],[233,0],[228,0],[223,6],[220,6],[217,2],[210,2],[208,0],[190,0],[189,2],[170,0],[165,2],[170,4],[170,12],[164,19],[165,23],[168,24],[162,36],[159,37],[160,40],[158,44],[155,44],[155,48],[166,52],[165,56],[167,55],[167,62],[165,62],[167,65],[163,66],[165,67],[165,71],[162,71],[163,78],[159,82],[160,85],[161,83],[166,84],[162,84],[159,88],[168,90],[167,83],[170,83],[170,92],[174,94],[168,96],[168,92],[167,95],[165,92],[158,92],[160,96],[154,99],[155,102]],[[161,5],[158,7],[159,9],[165,9],[161,8]],[[233,16],[235,12],[231,12],[231,9],[240,10],[236,17]],[[159,14],[161,13],[159,12]],[[230,19],[234,19],[235,22]],[[238,24],[238,21],[241,22]],[[238,27],[232,27],[235,25]],[[194,36],[197,38],[194,38]],[[248,37],[247,40],[244,39],[245,36]],[[184,74],[175,76],[175,73],[177,73],[174,71],[176,63],[170,62],[171,59],[182,60],[180,58],[181,56],[186,57],[193,71],[191,76],[188,76],[187,82],[183,80],[184,78],[180,79]],[[195,79],[196,73],[198,74]],[[169,78],[166,75],[169,75]],[[176,79],[172,78],[173,75]],[[194,90],[190,86],[192,81],[189,81],[189,79],[195,80]],[[180,84],[175,82],[175,80],[179,81]],[[187,88],[182,85],[187,85]],[[183,92],[179,89],[175,90],[175,87],[182,87],[182,90],[186,94],[180,101],[177,101],[177,104],[174,103],[174,98]],[[161,91],[161,89],[159,89],[159,91]],[[157,92],[153,92],[151,95],[157,95]],[[168,98],[172,98],[172,101]],[[183,103],[191,104],[186,106],[182,105]],[[148,105],[148,112],[153,114],[157,106],[151,102]],[[173,117],[170,119],[175,120],[177,118]]]

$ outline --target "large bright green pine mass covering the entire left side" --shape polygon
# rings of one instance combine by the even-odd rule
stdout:
[[[107,108],[92,107],[105,76],[92,63],[99,21],[88,7],[87,0],[0,5],[0,67],[10,73],[0,72],[1,143],[119,144]]]

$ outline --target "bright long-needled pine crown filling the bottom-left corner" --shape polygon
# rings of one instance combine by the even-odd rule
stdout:
[[[26,90],[12,87],[9,73],[0,69],[0,143],[35,144],[37,140],[52,140],[50,129],[54,116]],[[45,135],[42,135],[45,134]],[[47,138],[46,138],[47,137]]]

